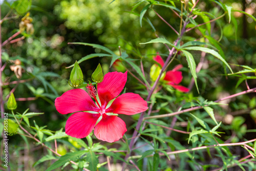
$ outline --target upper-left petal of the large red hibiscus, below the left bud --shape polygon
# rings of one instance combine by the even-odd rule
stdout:
[[[98,111],[97,106],[82,89],[69,90],[55,99],[56,110],[61,114],[78,111]]]

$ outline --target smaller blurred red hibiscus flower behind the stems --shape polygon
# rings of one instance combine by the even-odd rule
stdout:
[[[153,59],[160,64],[161,67],[164,65],[164,61],[160,55],[153,57]],[[181,91],[181,92],[189,92],[189,89],[183,86],[178,85],[182,81],[182,72],[177,71],[181,69],[183,66],[180,64],[176,66],[173,70],[167,71],[164,77],[164,80],[168,81],[167,84],[172,86],[173,88]]]

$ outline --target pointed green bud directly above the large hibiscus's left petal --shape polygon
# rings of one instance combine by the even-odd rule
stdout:
[[[76,61],[74,68],[72,69],[70,74],[69,85],[71,87],[78,88],[82,85],[82,83],[83,83],[82,70]]]

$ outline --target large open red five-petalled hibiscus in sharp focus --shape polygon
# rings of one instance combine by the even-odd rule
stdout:
[[[94,129],[95,136],[102,141],[114,142],[122,138],[127,131],[126,125],[117,115],[135,115],[148,109],[147,102],[138,94],[118,96],[126,80],[127,71],[110,72],[98,83],[98,91],[88,85],[88,92],[74,89],[56,98],[55,106],[59,113],[74,113],[67,120],[66,134],[84,138]]]

